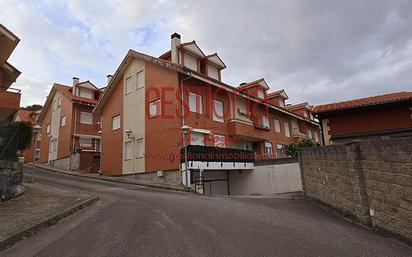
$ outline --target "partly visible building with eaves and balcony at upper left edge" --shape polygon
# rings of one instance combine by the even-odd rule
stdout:
[[[20,90],[12,88],[20,71],[7,62],[20,39],[0,24],[0,124],[10,121],[20,108]]]

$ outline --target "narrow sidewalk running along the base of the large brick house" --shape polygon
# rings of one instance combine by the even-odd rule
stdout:
[[[40,164],[40,163],[36,164],[36,167],[45,169],[48,171],[71,175],[71,176],[100,179],[104,181],[117,182],[117,183],[123,183],[123,184],[132,184],[132,185],[139,185],[139,186],[147,186],[147,187],[160,188],[160,189],[166,189],[166,190],[187,191],[182,185],[167,185],[167,184],[155,183],[155,182],[150,182],[150,181],[137,180],[137,179],[128,178],[128,177],[110,177],[110,176],[99,175],[95,173],[85,173],[85,172],[80,172],[80,171],[67,171],[67,170],[50,167],[47,164]]]

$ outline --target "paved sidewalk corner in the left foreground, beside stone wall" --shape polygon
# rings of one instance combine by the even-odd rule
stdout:
[[[24,186],[23,196],[0,203],[0,251],[98,200],[43,184]]]

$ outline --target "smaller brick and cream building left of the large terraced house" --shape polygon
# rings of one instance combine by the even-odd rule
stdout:
[[[97,172],[100,117],[92,111],[104,89],[90,81],[55,83],[40,113],[40,162],[67,170]]]

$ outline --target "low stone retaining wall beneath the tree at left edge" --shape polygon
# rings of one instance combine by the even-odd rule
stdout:
[[[18,197],[23,193],[23,163],[0,160],[0,201]]]

